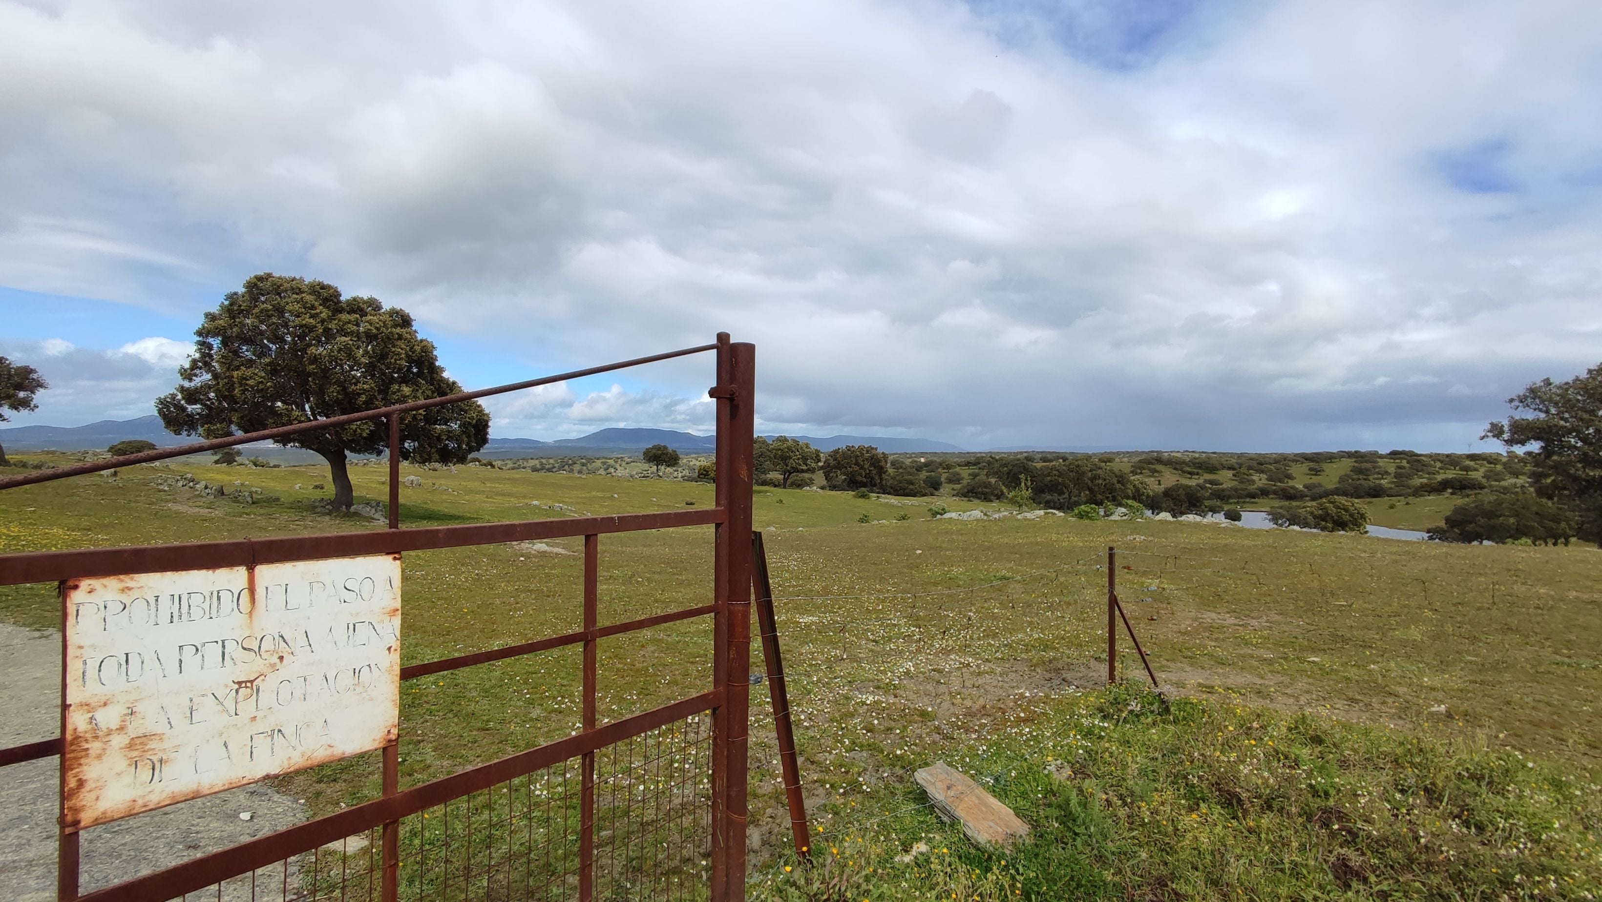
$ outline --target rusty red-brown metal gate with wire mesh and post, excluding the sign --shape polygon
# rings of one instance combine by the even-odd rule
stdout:
[[[407,413],[708,351],[716,352],[716,385],[708,393],[718,410],[713,508],[423,529],[400,525],[400,420]],[[260,566],[295,561],[583,537],[582,630],[412,663],[399,671],[399,679],[405,681],[582,646],[580,732],[409,790],[399,787],[396,735],[383,745],[381,798],[88,894],[78,892],[80,830],[62,807],[58,897],[107,902],[189,896],[284,902],[328,897],[743,899],[753,383],[755,346],[731,343],[727,333],[719,333],[713,344],[0,481],[0,490],[14,489],[362,421],[384,420],[389,431],[386,530],[5,554],[0,556],[0,585],[59,582],[66,586],[69,580],[208,567],[245,567],[255,574]],[[716,532],[710,601],[639,620],[599,623],[602,537],[689,525],[713,525]],[[596,644],[694,617],[711,617],[711,686],[641,715],[598,723]],[[769,633],[771,625],[766,626]],[[64,644],[66,634],[64,630]],[[62,735],[66,679],[64,670]],[[64,739],[56,737],[3,748],[0,767],[59,756],[64,745]],[[66,795],[64,787],[62,803]]]

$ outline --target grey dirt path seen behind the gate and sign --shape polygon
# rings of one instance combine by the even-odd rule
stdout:
[[[59,732],[61,634],[0,623],[0,747]],[[0,899],[56,897],[56,759],[0,769]],[[250,820],[240,820],[240,812]],[[306,819],[304,806],[266,785],[244,787],[91,827],[82,840],[80,891],[160,870],[282,830]],[[292,868],[290,886],[296,886]],[[263,875],[261,899],[277,897],[282,870]],[[227,886],[224,899],[250,899],[250,886]],[[266,892],[271,883],[272,892]]]

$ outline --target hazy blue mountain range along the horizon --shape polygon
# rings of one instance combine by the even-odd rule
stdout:
[[[772,439],[774,436],[767,436]],[[825,439],[812,436],[791,436],[822,452],[835,450],[841,445],[875,445],[883,452],[960,452],[963,449],[936,442],[931,439],[899,439],[891,436],[828,436]],[[139,417],[136,420],[101,420],[88,426],[13,426],[0,429],[0,445],[6,450],[104,450],[125,439],[144,439],[157,447],[186,445],[199,442],[192,436],[175,436],[162,428],[162,418]],[[615,457],[620,453],[638,453],[650,445],[663,444],[679,453],[713,453],[716,437],[697,436],[695,433],[679,433],[674,429],[623,429],[610,428],[590,433],[577,439],[556,439],[545,442],[540,439],[492,437],[481,457]],[[287,449],[274,449],[287,450]]]

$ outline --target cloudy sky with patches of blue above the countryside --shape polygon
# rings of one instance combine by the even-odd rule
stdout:
[[[1602,359],[1602,5],[0,0],[13,423],[151,412],[263,272],[466,388],[756,344],[758,428],[1485,447]],[[493,434],[706,433],[692,357]]]

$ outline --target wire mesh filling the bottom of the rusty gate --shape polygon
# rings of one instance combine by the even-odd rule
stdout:
[[[708,896],[711,723],[698,713],[596,753],[594,899]],[[583,756],[400,820],[399,897],[578,899]],[[380,827],[189,892],[183,902],[380,899]]]

